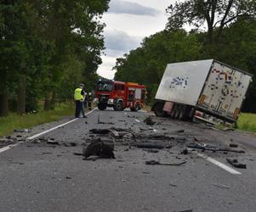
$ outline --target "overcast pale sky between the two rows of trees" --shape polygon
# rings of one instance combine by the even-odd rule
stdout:
[[[98,74],[113,79],[111,70],[116,59],[139,47],[145,36],[162,31],[167,23],[165,9],[174,0],[111,0],[110,8],[103,15],[106,24],[105,54]]]

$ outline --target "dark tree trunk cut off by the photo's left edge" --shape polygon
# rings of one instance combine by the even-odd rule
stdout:
[[[6,76],[1,76],[0,79],[0,116],[8,115],[8,90]]]

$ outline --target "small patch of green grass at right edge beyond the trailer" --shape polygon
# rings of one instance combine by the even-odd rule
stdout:
[[[256,114],[242,113],[237,121],[239,130],[256,132]]]

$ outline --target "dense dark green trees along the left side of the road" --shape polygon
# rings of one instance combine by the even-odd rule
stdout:
[[[109,0],[2,0],[0,116],[53,109],[98,79]]]

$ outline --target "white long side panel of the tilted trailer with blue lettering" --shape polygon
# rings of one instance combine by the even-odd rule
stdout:
[[[196,106],[213,59],[168,64],[156,99]]]

